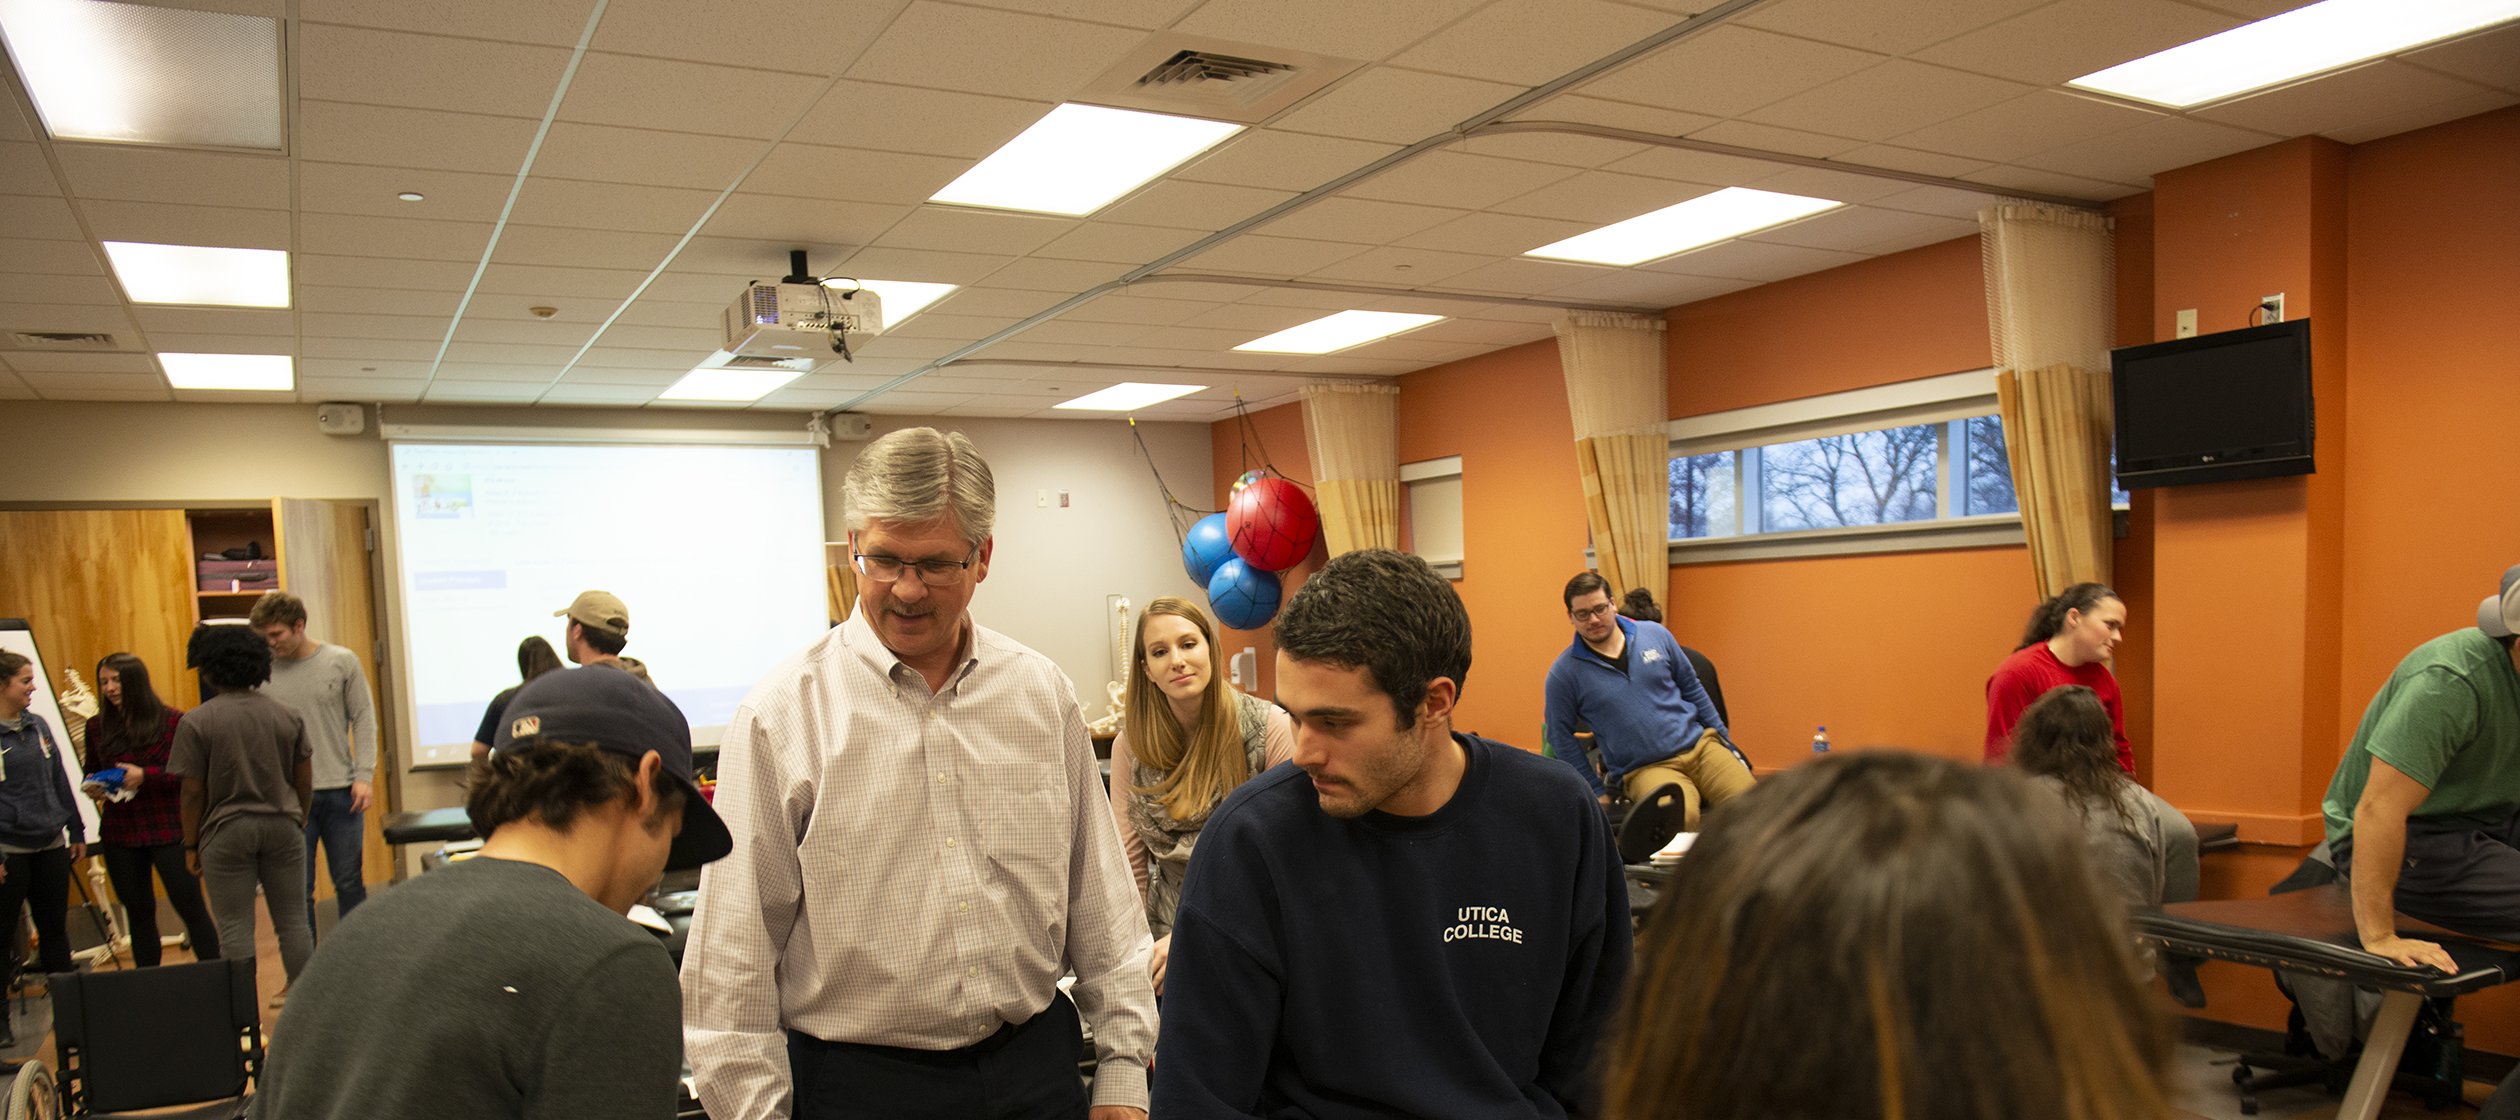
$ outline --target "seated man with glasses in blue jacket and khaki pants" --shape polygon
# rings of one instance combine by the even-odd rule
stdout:
[[[1749,759],[1726,739],[1724,716],[1663,623],[1620,618],[1610,585],[1595,573],[1567,580],[1565,600],[1575,641],[1557,653],[1545,686],[1550,752],[1610,805],[1603,777],[1575,742],[1575,724],[1588,724],[1610,782],[1620,782],[1628,800],[1678,785],[1683,827],[1696,832],[1704,810],[1749,792]]]

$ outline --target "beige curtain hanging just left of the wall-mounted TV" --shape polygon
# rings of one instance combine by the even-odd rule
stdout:
[[[2003,204],[1978,212],[2003,446],[2039,595],[2109,580],[2109,219]]]

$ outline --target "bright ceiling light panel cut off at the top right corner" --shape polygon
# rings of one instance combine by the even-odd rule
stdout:
[[[2192,108],[2515,18],[2520,0],[2323,0],[2066,86]]]

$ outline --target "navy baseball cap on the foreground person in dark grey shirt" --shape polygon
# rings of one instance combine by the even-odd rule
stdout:
[[[663,691],[610,666],[542,674],[507,701],[494,752],[527,739],[592,742],[638,762],[655,752],[683,787],[683,832],[665,853],[665,870],[690,870],[736,850],[718,810],[690,779],[690,721]]]

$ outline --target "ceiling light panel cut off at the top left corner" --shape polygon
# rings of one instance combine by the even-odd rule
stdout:
[[[280,23],[103,0],[0,0],[53,139],[280,151]]]

